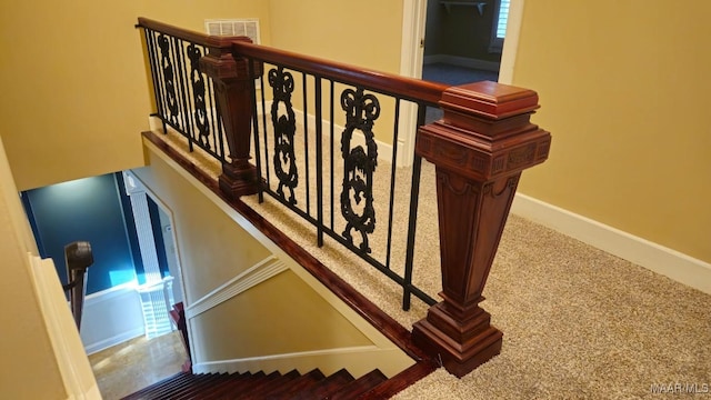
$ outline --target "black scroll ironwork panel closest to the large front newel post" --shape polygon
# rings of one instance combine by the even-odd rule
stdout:
[[[341,108],[346,111],[346,130],[341,137],[343,156],[343,191],[341,192],[341,213],[348,222],[343,237],[353,244],[351,231],[360,232],[360,250],[370,253],[368,233],[375,230],[375,209],[373,208],[373,172],[378,166],[378,146],[373,134],[373,122],[380,116],[380,103],[373,94],[364,94],[362,88],[346,89],[341,94]],[[353,131],[358,129],[365,137],[365,147],[351,149]],[[362,212],[353,209],[352,201],[360,206],[364,199]]]

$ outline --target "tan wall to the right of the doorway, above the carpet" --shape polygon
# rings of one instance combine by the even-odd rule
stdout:
[[[524,4],[513,83],[553,144],[521,192],[711,262],[711,2]]]

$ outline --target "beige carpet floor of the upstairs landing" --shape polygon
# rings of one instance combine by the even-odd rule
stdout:
[[[166,138],[180,141],[172,134]],[[198,152],[191,158],[219,173],[219,166],[210,159]],[[388,178],[390,167],[380,162],[378,168]],[[400,210],[407,210],[409,174],[404,169],[397,171],[397,181],[405,182],[395,196]],[[375,198],[381,198],[383,186],[389,187],[388,179],[377,179]],[[414,280],[437,297],[440,272],[433,179],[433,168],[425,163]],[[424,303],[413,300],[412,309],[402,311],[401,289],[348,256],[333,240],[316,247],[314,229],[274,200],[267,197],[262,204],[256,197],[244,200],[405,328],[424,317]],[[404,216],[398,212],[393,270],[400,268],[407,231],[407,211]],[[382,210],[377,213],[387,216]],[[385,226],[387,217],[379,221]],[[382,243],[383,238],[387,232],[377,229],[371,243]],[[382,249],[373,244],[373,254],[381,257]],[[668,391],[670,384],[674,398],[693,396],[687,391],[694,390],[711,396],[709,294],[512,214],[484,296],[481,306],[504,333],[501,354],[462,379],[438,369],[395,399],[638,399],[659,398],[654,391]]]

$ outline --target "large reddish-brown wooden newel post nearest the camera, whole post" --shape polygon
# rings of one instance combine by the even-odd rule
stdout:
[[[415,151],[437,168],[443,301],[413,340],[462,377],[501,351],[503,333],[479,307],[521,171],[548,158],[550,133],[530,123],[534,91],[477,82],[444,91],[442,120]]]

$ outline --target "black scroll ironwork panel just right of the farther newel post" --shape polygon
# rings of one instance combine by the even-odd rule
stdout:
[[[293,92],[293,76],[282,67],[269,71],[269,84],[272,87],[273,101],[271,103],[271,122],[274,127],[274,172],[279,178],[277,193],[291,204],[297,203],[293,188],[299,184],[297,158],[293,149],[293,137],[297,132],[297,120],[291,106]],[[286,113],[279,114],[279,106],[283,104]],[[283,188],[289,189],[289,199]]]

